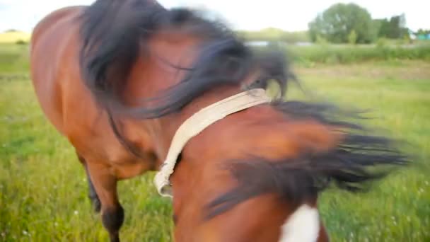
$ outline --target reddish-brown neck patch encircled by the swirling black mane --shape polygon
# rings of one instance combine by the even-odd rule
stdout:
[[[124,98],[129,103],[151,98],[178,84],[192,67],[197,40],[160,33],[146,42],[129,73]],[[175,67],[185,67],[178,69]]]

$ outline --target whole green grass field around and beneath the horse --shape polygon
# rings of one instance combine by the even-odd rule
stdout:
[[[36,102],[25,57],[23,47],[0,45],[0,241],[107,241],[74,150]],[[371,123],[410,142],[407,150],[420,163],[363,195],[325,192],[320,212],[332,241],[430,241],[430,63],[317,65],[296,72],[319,98],[371,108],[377,117]],[[152,177],[120,183],[124,241],[172,240],[170,202],[156,194]]]

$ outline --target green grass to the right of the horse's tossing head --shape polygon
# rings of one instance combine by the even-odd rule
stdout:
[[[320,210],[334,241],[430,241],[429,70],[424,62],[299,70],[319,98],[373,110],[371,124],[405,139],[419,160],[417,168],[395,173],[367,194],[322,195]]]

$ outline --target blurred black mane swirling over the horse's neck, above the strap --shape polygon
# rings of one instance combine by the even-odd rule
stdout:
[[[284,55],[252,51],[226,25],[209,21],[197,11],[168,10],[149,0],[98,0],[84,11],[82,18],[83,79],[95,100],[114,113],[137,118],[175,113],[211,88],[239,86],[255,67],[262,70],[262,76],[253,87],[264,87],[269,79],[276,79],[280,86],[286,87],[289,71]],[[126,107],[120,93],[127,74],[138,53],[149,54],[147,40],[165,28],[202,38],[201,54],[194,66],[183,67],[188,70],[187,75],[177,86],[144,100],[139,108]],[[155,103],[155,108],[147,108],[145,103],[151,103],[151,107]]]

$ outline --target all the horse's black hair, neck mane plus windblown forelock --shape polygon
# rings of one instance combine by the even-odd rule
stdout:
[[[83,12],[82,18],[83,79],[95,100],[114,114],[155,118],[175,113],[211,88],[240,86],[255,67],[262,74],[251,86],[265,88],[273,79],[281,87],[281,98],[288,81],[295,80],[282,51],[256,52],[226,25],[204,19],[185,8],[167,10],[149,0],[98,0]],[[155,108],[148,108],[145,102],[139,108],[129,108],[123,105],[120,96],[127,74],[138,53],[149,54],[147,41],[163,28],[175,28],[202,38],[201,54],[192,67],[177,67],[187,70],[185,79],[178,85],[146,100],[151,102],[151,107],[155,103]],[[369,167],[407,163],[405,156],[392,148],[389,139],[361,134],[364,129],[341,121],[333,115],[337,110],[330,105],[279,101],[274,107],[289,117],[341,126],[346,138],[323,154],[302,151],[296,158],[274,163],[258,158],[233,163],[231,172],[238,180],[238,187],[211,202],[207,218],[265,192],[276,192],[286,200],[300,202],[314,197],[332,180],[340,188],[361,190],[365,181],[385,174],[368,170]],[[345,117],[349,120],[352,116]],[[115,122],[112,124],[115,128]]]

